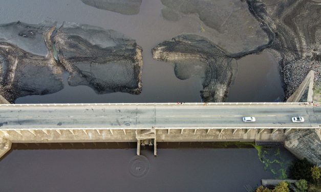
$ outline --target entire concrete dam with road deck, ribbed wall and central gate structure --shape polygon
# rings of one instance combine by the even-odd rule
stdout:
[[[2,104],[0,155],[11,143],[284,141],[287,134],[320,134],[319,103]],[[243,122],[253,116],[256,122]],[[293,123],[293,116],[305,121]]]

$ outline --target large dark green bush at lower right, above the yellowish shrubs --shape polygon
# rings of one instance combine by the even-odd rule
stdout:
[[[292,179],[300,180],[305,179],[307,181],[312,181],[311,167],[313,166],[306,158],[293,161],[290,166],[290,177]]]

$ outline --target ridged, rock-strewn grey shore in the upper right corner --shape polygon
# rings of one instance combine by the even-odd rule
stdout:
[[[269,48],[281,54],[280,64],[289,97],[315,70],[315,83],[321,73],[321,5],[316,1],[248,1],[253,14],[271,29]]]

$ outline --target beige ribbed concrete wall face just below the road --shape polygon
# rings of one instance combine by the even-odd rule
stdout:
[[[92,130],[0,130],[0,157],[10,150],[11,142],[137,142],[156,138],[158,142],[180,141],[283,141],[284,129],[157,129],[155,133],[142,134],[135,129]],[[151,134],[154,134],[151,136]],[[156,154],[156,153],[155,153]]]

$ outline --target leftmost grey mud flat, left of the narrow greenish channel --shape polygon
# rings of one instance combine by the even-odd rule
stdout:
[[[22,22],[0,26],[0,94],[13,103],[32,94],[63,88],[62,67],[53,58],[50,35],[54,23]]]

